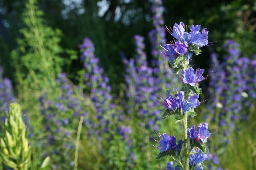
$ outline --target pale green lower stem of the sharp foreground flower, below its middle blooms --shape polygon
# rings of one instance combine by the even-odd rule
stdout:
[[[188,170],[188,159],[189,159],[189,153],[188,153],[188,133],[187,133],[187,128],[188,128],[188,115],[185,113],[184,119],[183,119],[183,130],[184,130],[184,151],[185,151],[185,166],[184,170]]]

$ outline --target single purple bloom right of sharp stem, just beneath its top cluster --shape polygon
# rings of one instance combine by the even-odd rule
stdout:
[[[188,70],[182,70],[182,81],[186,84],[189,84],[190,86],[195,86],[196,84],[198,84],[198,82],[206,79],[202,76],[203,73],[204,69],[198,68],[196,69],[196,72],[194,72],[194,69],[192,67],[189,67]]]

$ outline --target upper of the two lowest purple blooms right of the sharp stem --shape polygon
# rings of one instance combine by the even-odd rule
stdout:
[[[200,123],[200,125],[197,127],[197,130],[195,131],[195,125],[188,128],[188,137],[190,140],[194,140],[198,143],[206,143],[207,138],[210,137],[212,133],[210,133],[208,130],[208,123]]]

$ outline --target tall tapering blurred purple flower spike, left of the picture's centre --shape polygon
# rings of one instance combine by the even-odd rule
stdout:
[[[90,147],[101,153],[101,156],[93,155],[89,150],[88,154],[97,158],[98,161],[97,163],[86,162],[86,167],[88,164],[93,164],[92,166],[97,164],[99,167],[107,165],[110,169],[133,168],[135,156],[130,137],[132,129],[126,126],[129,118],[122,115],[122,108],[118,107],[116,96],[111,94],[109,78],[104,74],[100,61],[94,54],[95,47],[92,40],[86,37],[80,49],[80,60],[84,67],[79,72],[79,90],[83,96],[88,96],[90,99],[90,109],[94,113],[89,113],[84,119],[84,126],[88,130],[84,135],[86,137],[82,138],[93,141],[92,146],[84,145],[86,150]],[[117,145],[120,147],[116,147]]]

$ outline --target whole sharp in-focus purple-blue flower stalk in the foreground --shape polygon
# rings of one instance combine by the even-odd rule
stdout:
[[[200,123],[188,127],[188,119],[194,117],[197,113],[194,109],[200,105],[199,95],[202,93],[199,83],[205,80],[204,69],[196,69],[190,65],[193,55],[199,55],[201,47],[208,45],[208,31],[200,25],[192,25],[190,32],[185,31],[183,22],[175,23],[173,28],[166,27],[167,31],[175,38],[170,44],[166,44],[160,51],[162,57],[170,63],[170,66],[176,74],[181,73],[183,89],[180,92],[167,90],[167,98],[159,96],[158,102],[164,106],[164,113],[161,119],[175,117],[176,123],[181,123],[183,127],[183,136],[179,141],[174,135],[168,136],[166,133],[158,136],[160,141],[154,139],[160,149],[156,159],[165,156],[171,156],[173,162],[167,162],[167,170],[202,170],[203,161],[210,159],[209,150],[206,146],[207,139],[212,133],[208,131],[208,123]],[[177,143],[178,141],[178,143]],[[181,150],[184,149],[182,153]]]

